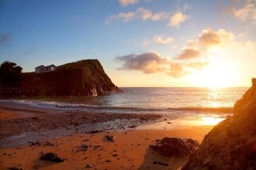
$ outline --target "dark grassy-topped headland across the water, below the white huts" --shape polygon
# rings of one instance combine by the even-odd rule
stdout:
[[[49,73],[23,74],[22,88],[45,96],[97,96],[122,92],[104,72],[98,60],[81,60],[59,66]]]

